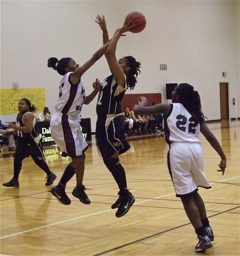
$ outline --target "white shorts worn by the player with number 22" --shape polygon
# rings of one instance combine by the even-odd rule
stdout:
[[[169,152],[170,174],[177,196],[198,187],[211,188],[203,171],[204,153],[199,143],[172,143]]]

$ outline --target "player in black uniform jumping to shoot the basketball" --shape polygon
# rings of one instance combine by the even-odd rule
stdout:
[[[109,37],[104,16],[98,15],[96,22],[102,29],[103,43],[106,44]],[[126,56],[117,61],[115,55],[120,36],[131,28],[130,24],[124,24],[116,31],[109,43],[105,56],[112,74],[102,82],[97,100],[97,145],[104,163],[120,190],[118,200],[111,206],[112,209],[118,208],[115,214],[118,218],[124,216],[135,201],[134,196],[127,189],[125,170],[118,157],[130,148],[125,140],[121,100],[127,88],[133,89],[136,85],[136,76],[140,72],[141,63],[132,56]]]

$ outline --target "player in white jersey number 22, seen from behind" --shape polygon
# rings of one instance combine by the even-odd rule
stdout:
[[[202,253],[211,248],[214,234],[207,219],[204,201],[198,194],[200,186],[211,188],[203,171],[204,154],[200,145],[200,132],[221,157],[218,171],[222,174],[227,161],[220,143],[204,122],[200,96],[193,86],[186,83],[176,86],[172,93],[172,102],[147,107],[147,99],[141,97],[136,112],[143,115],[164,114],[164,136],[170,146],[168,169],[176,196],[182,200],[186,214],[198,235],[199,242],[195,252]]]

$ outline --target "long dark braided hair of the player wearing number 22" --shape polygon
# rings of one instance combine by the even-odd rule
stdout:
[[[179,95],[178,102],[182,103],[184,108],[201,123],[204,122],[205,116],[202,113],[202,105],[200,95],[190,84],[182,83],[175,88],[175,92]]]

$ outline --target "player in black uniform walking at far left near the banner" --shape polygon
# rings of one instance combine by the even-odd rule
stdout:
[[[19,188],[19,173],[22,168],[24,158],[31,156],[44,172],[47,174],[46,186],[51,185],[56,179],[56,175],[49,170],[49,166],[45,162],[44,153],[42,152],[42,144],[40,143],[41,135],[35,130],[36,117],[33,114],[36,107],[31,105],[29,99],[21,99],[19,101],[19,114],[17,115],[16,124],[8,124],[8,128],[17,131],[16,152],[13,155],[13,179],[10,182],[3,183],[3,186]]]

